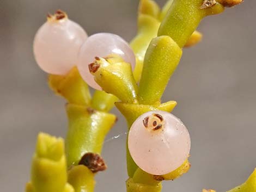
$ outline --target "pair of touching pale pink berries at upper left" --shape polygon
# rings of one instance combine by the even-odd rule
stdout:
[[[135,55],[129,44],[120,36],[111,33],[98,33],[92,36],[74,21],[69,20],[63,11],[48,15],[35,35],[34,55],[38,65],[47,73],[66,75],[77,64],[82,78],[94,89],[101,90],[90,74],[89,64],[95,57],[117,54],[132,69],[135,67]]]

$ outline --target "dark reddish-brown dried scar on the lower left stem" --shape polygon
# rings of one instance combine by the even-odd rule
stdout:
[[[86,153],[81,158],[79,165],[87,166],[94,174],[98,171],[104,171],[107,169],[103,158],[97,153]]]

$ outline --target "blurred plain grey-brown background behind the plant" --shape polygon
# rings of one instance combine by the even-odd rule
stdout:
[[[157,1],[163,5],[164,1]],[[111,32],[127,41],[136,34],[138,0],[0,0],[0,185],[23,191],[29,180],[36,135],[65,137],[65,101],[47,87],[32,42],[46,14],[63,9],[88,34]],[[163,101],[176,100],[174,114],[190,131],[192,168],[163,191],[226,191],[256,167],[256,1],[206,18],[203,42],[184,49]],[[123,134],[119,122],[107,138]],[[103,149],[109,169],[97,175],[96,192],[125,191],[125,135]]]

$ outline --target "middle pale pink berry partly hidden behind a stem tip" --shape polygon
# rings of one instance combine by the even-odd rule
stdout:
[[[107,57],[110,54],[117,54],[127,63],[135,68],[135,54],[127,42],[120,36],[111,33],[97,33],[84,42],[80,49],[78,59],[78,70],[84,81],[94,89],[102,90],[95,82],[94,76],[90,73],[88,65],[95,61],[95,57]]]

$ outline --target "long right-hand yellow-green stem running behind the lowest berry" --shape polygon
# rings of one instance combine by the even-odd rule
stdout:
[[[166,17],[163,19],[159,28],[157,34],[158,38],[151,41],[145,54],[138,92],[139,104],[151,105],[152,108],[157,108],[153,106],[157,106],[161,103],[161,97],[168,80],[179,64],[182,54],[181,48],[186,44],[188,39],[190,39],[192,33],[205,16],[218,14],[224,10],[223,6],[219,3],[207,10],[200,9],[202,3],[202,0],[174,0],[174,2],[169,1],[167,3],[166,10],[170,5],[171,7],[167,14],[165,13],[166,10],[162,12],[162,16],[166,14]],[[130,112],[127,110],[127,106],[124,107],[124,104],[116,104],[126,117],[129,126],[131,126],[131,123],[139,116],[136,112],[144,112],[144,110],[147,110],[147,107],[144,108],[139,104],[132,106]],[[148,107],[148,110],[152,109]],[[180,176],[183,173],[182,171],[186,172],[189,167],[190,164],[185,162],[181,168],[175,170],[174,173],[170,173],[167,178]],[[142,172],[139,172],[140,174],[137,176],[135,173],[139,171],[139,169],[136,168],[137,165],[133,162],[127,150],[127,170],[130,176],[130,179],[126,183],[127,191],[133,191],[136,190],[136,188],[138,190],[139,186],[143,188],[143,190],[139,191],[149,191],[147,187],[152,187],[152,185],[154,185],[154,188],[150,188],[150,191],[161,190],[159,184],[155,184],[150,179],[146,179],[148,183],[145,183]]]

